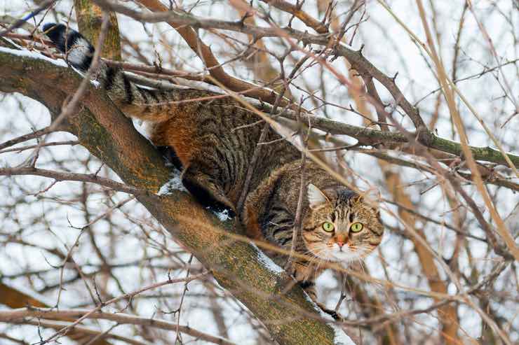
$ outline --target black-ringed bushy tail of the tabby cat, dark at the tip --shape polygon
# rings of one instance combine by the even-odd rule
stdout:
[[[95,48],[78,31],[64,24],[47,23],[43,31],[53,41],[67,62],[86,72],[93,62]],[[142,120],[167,120],[168,103],[176,101],[175,92],[149,90],[132,83],[123,70],[100,62],[95,78],[114,103],[128,116]]]

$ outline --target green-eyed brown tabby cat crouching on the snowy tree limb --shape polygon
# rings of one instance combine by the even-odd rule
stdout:
[[[64,24],[46,24],[43,30],[69,64],[88,70],[94,48],[86,38]],[[300,153],[292,144],[276,141],[281,136],[270,129],[265,141],[274,143],[260,150],[243,207],[236,209],[263,127],[245,125],[256,122],[257,115],[229,97],[189,101],[215,95],[211,92],[138,87],[121,69],[102,62],[95,78],[123,113],[151,122],[155,146],[173,148],[182,183],[198,202],[229,211],[238,216],[248,236],[290,251],[302,170]],[[307,162],[305,169],[307,188],[296,252],[339,263],[364,258],[384,232],[377,209],[314,162]],[[268,254],[285,266],[287,255]],[[315,300],[314,279],[322,269],[315,260],[294,261],[295,279]]]

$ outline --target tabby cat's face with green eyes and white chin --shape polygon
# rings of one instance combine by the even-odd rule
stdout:
[[[311,254],[350,262],[365,258],[380,244],[384,227],[378,211],[356,193],[346,188],[321,191],[310,183],[307,198],[302,237]]]

